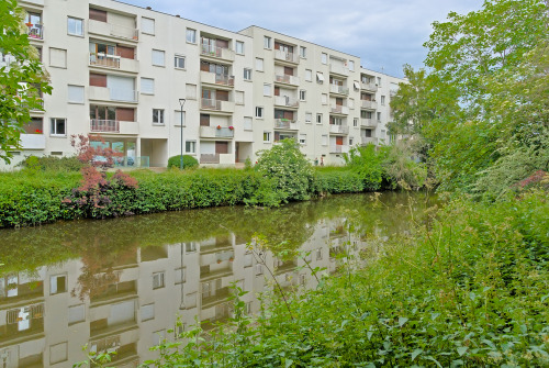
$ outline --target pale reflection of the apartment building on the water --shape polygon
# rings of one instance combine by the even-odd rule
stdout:
[[[306,266],[336,270],[336,256],[356,249],[359,238],[344,220],[320,221],[303,244],[303,257],[266,257],[259,264],[249,239],[225,234],[201,242],[132,248],[109,267],[87,257],[0,279],[0,367],[71,367],[92,352],[116,352],[113,366],[136,367],[156,357],[148,348],[168,330],[208,331],[231,316],[231,285],[248,313],[260,309],[257,294],[271,281],[282,288],[315,287]],[[305,261],[306,260],[306,261]],[[97,265],[96,265],[97,266]]]

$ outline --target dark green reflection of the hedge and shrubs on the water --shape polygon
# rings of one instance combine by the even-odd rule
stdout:
[[[113,267],[110,265],[116,263],[116,257],[122,257],[122,250],[135,252],[138,246],[200,242],[235,233],[239,241],[248,242],[254,234],[261,234],[271,244],[288,242],[295,248],[312,235],[321,219],[336,218],[347,219],[360,234],[388,235],[408,228],[406,193],[382,193],[383,205],[376,205],[372,196],[333,196],[278,209],[212,208],[1,230],[0,259],[5,264],[4,271],[16,271],[82,257],[88,274],[82,283],[87,290],[75,292],[89,294],[90,290],[99,290],[113,280],[112,276],[104,280],[91,279],[91,275],[104,272]],[[419,211],[424,194],[411,196],[418,199],[413,207]]]

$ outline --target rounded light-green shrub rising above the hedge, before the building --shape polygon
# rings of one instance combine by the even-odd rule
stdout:
[[[306,200],[311,197],[313,167],[301,153],[295,140],[283,140],[271,149],[260,150],[256,170],[273,180],[280,202]]]

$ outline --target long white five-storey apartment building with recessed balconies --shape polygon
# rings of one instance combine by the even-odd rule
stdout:
[[[311,161],[337,164],[352,145],[388,140],[383,104],[402,80],[362,69],[359,57],[113,0],[20,5],[53,93],[32,112],[12,165],[72,155],[70,136],[89,133],[130,167],[166,166],[181,147],[202,165],[233,166],[285,137]]]

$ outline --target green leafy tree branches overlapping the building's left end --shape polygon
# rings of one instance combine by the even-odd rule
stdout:
[[[38,52],[29,44],[24,11],[15,0],[0,1],[0,54],[10,57],[0,67],[0,158],[10,163],[10,150],[20,148],[20,134],[31,120],[30,111],[42,109],[40,92],[51,93]]]

